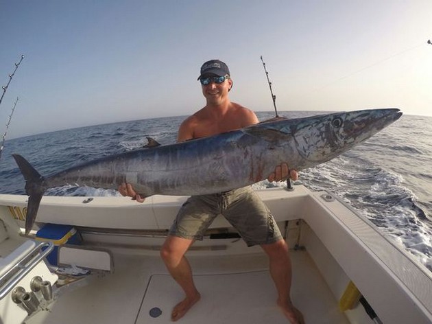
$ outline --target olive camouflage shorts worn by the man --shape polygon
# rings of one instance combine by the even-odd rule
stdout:
[[[230,222],[248,246],[271,244],[282,239],[272,213],[251,187],[191,196],[178,211],[170,235],[202,240],[216,216]]]

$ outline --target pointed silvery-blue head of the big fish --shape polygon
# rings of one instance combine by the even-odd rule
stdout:
[[[333,113],[291,126],[305,167],[324,163],[375,135],[400,118],[396,108]]]

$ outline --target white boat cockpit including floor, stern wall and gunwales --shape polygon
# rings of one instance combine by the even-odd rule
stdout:
[[[347,290],[350,282],[383,323],[432,323],[429,270],[370,221],[333,195],[302,186],[293,192],[266,189],[259,194],[288,245],[305,248],[290,253],[291,297],[306,323],[373,323],[354,295],[344,295],[352,292]],[[0,196],[0,219],[5,225],[0,227],[0,257],[9,257],[25,240],[19,227],[24,224],[26,199]],[[158,251],[183,201],[184,197],[160,196],[136,204],[98,197],[89,205],[81,197],[45,197],[38,226],[71,224],[84,242],[75,248],[60,246],[59,262],[93,269],[93,275],[60,289],[56,284],[53,303],[45,303],[38,293],[42,301],[38,309],[43,310],[27,319],[23,305],[5,297],[3,317],[21,316],[15,324],[21,324],[21,318],[27,324],[171,323],[171,310],[183,294]],[[224,218],[217,218],[204,241],[189,249],[202,300],[180,323],[287,323],[276,306],[267,256],[259,246],[247,248],[233,233]],[[45,273],[47,281],[56,282],[45,264],[38,266],[19,283],[25,291],[31,289],[35,275]],[[99,273],[110,270],[114,273]],[[339,299],[352,309],[340,312]]]

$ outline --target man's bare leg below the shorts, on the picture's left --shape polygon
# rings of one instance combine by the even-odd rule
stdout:
[[[172,321],[181,319],[189,308],[199,301],[201,297],[200,292],[195,288],[195,283],[193,283],[191,266],[186,257],[184,257],[184,254],[192,243],[193,240],[169,235],[160,250],[160,256],[165,262],[169,273],[183,289],[184,294],[186,294],[183,301],[180,301],[173,308],[173,312],[171,313]]]

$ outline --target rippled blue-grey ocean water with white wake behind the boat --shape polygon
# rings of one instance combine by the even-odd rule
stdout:
[[[289,118],[313,112],[282,112]],[[257,113],[260,120],[274,117]],[[146,137],[161,144],[176,141],[185,117],[74,128],[12,139],[0,159],[0,193],[24,194],[24,179],[12,153],[23,155],[40,174],[143,147]],[[432,117],[403,115],[361,145],[317,167],[300,172],[297,183],[328,190],[368,217],[391,240],[402,244],[432,270]],[[278,183],[276,185],[283,185]],[[255,187],[272,187],[263,181]],[[53,188],[48,195],[115,196],[115,190]]]

